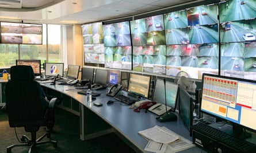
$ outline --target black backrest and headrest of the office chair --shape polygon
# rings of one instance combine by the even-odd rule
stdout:
[[[34,79],[31,66],[16,65],[10,69],[11,80],[5,87],[6,110],[10,127],[44,124],[47,101],[43,89]],[[43,93],[43,94],[42,94]]]

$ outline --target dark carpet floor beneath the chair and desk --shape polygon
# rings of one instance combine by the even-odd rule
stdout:
[[[99,136],[94,139],[82,141],[79,139],[79,117],[56,108],[56,123],[52,131],[51,138],[58,142],[56,148],[52,144],[41,144],[33,148],[32,152],[95,152],[95,153],[115,153],[115,152],[135,152],[123,142],[114,133]],[[30,133],[25,132],[24,128],[16,128],[18,138]],[[45,128],[41,127],[37,132],[37,138],[43,135]],[[43,140],[47,140],[44,138]],[[6,111],[0,111],[0,152],[6,152],[6,147],[11,144],[17,144],[18,140],[14,128],[9,127],[8,116]],[[28,152],[29,147],[15,147],[12,152]]]

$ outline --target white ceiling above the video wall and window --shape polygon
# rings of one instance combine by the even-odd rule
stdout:
[[[0,6],[0,19],[43,23],[87,23],[131,17],[167,6],[200,1],[203,0],[22,0],[22,9],[6,9]]]

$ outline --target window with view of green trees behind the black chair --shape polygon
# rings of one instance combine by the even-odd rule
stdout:
[[[16,65],[16,60],[41,60],[48,62],[65,62],[62,55],[67,45],[66,26],[43,24],[43,44],[0,44],[0,68]],[[64,37],[64,38],[63,38]],[[48,38],[48,51],[47,51]],[[60,45],[62,44],[62,45]],[[19,49],[20,48],[20,49]],[[20,53],[18,52],[20,50]]]

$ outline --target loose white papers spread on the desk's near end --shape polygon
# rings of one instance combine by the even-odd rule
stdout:
[[[178,152],[194,147],[194,144],[189,140],[175,134],[165,127],[159,127],[158,125],[139,131],[138,134],[148,140],[148,144],[144,149],[145,151],[157,153]]]

